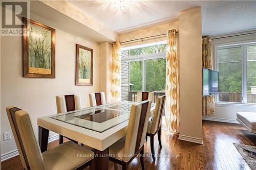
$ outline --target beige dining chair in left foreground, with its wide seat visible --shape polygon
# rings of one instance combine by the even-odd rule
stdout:
[[[93,152],[71,141],[41,153],[29,114],[13,106],[6,112],[24,169],[82,169],[91,165]]]

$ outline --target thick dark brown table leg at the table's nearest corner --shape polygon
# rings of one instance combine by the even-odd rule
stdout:
[[[104,151],[94,149],[95,169],[108,170],[109,169],[109,148]]]

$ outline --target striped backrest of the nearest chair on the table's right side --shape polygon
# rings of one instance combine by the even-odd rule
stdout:
[[[124,144],[123,160],[129,161],[144,144],[148,118],[150,117],[151,100],[132,105],[129,124]]]

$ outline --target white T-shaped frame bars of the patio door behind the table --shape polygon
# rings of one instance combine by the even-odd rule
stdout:
[[[122,51],[122,49],[121,49],[121,51]],[[145,89],[146,89],[146,70],[145,70],[146,60],[161,59],[161,58],[166,58],[166,52],[123,57],[123,58],[121,58],[121,63],[142,61],[142,91],[145,91]],[[129,75],[130,75],[130,69],[129,69]],[[130,83],[130,76],[129,76],[129,83]]]

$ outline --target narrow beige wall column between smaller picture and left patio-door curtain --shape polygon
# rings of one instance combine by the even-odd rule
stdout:
[[[111,56],[112,44],[109,42],[102,42],[99,45],[99,90],[105,92],[106,103],[111,102]]]

